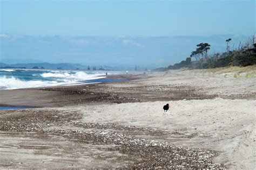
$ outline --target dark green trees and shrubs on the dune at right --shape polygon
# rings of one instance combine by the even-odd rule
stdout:
[[[231,38],[226,40],[226,52],[211,55],[208,55],[211,45],[201,42],[185,61],[155,70],[164,71],[179,68],[205,69],[226,66],[250,66],[256,64],[255,36],[252,36],[244,44],[240,42],[239,46],[232,51],[230,50],[230,41],[232,41]]]

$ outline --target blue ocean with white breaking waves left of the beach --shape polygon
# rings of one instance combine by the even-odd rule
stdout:
[[[106,72],[0,69],[0,90],[109,82]],[[113,73],[112,73],[113,74]]]

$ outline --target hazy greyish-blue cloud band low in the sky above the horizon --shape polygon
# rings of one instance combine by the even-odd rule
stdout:
[[[200,42],[211,44],[211,54],[225,52],[225,40],[228,38],[232,38],[231,48],[235,48],[240,41],[245,42],[250,37],[231,34],[205,37],[64,37],[0,34],[0,38],[0,62],[4,63],[70,62],[82,65],[162,67],[185,60]]]

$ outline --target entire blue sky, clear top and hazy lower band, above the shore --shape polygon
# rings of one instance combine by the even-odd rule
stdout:
[[[200,42],[212,43],[210,53],[227,38],[238,45],[256,27],[246,0],[0,2],[0,62],[168,66]]]

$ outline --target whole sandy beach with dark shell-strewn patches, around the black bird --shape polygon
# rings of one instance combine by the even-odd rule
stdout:
[[[32,107],[0,110],[0,168],[254,169],[255,70],[238,72],[0,90],[0,105]]]

